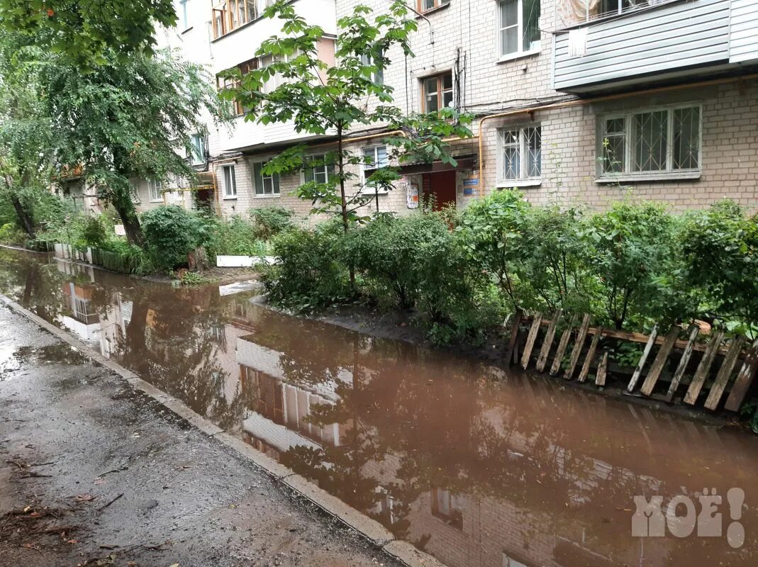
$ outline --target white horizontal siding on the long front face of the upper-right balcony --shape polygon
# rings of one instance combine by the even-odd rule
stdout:
[[[559,33],[555,52],[556,89],[726,62],[729,5],[729,0],[672,2],[592,23],[584,57],[568,57],[568,33]]]

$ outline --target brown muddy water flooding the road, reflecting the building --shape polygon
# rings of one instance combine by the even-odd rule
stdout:
[[[744,431],[288,317],[239,287],[2,250],[0,288],[449,567],[758,565]],[[635,495],[700,515],[706,489],[721,515],[697,523],[723,535],[632,534]]]

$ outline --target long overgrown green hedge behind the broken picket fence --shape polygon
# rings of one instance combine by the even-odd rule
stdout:
[[[641,331],[694,316],[750,330],[758,316],[758,221],[733,202],[685,215],[631,201],[589,213],[498,191],[454,215],[378,215],[343,235],[333,224],[291,228],[272,246],[280,264],[264,283],[277,304],[414,309],[438,341],[481,337],[515,309],[588,312]]]

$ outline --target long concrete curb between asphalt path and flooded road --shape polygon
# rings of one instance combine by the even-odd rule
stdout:
[[[111,359],[105,358],[105,356],[102,356],[102,354],[87,346],[73,335],[68,334],[65,330],[55,327],[54,324],[23,308],[2,293],[0,293],[0,301],[8,305],[14,312],[38,324],[59,340],[73,346],[84,356],[91,359],[92,362],[96,362],[96,364],[108,368],[114,374],[121,376],[135,387],[136,390],[146,393],[162,406],[188,421],[193,427],[198,428],[209,437],[213,437],[219,443],[229,447],[230,450],[245,457],[255,466],[261,468],[267,475],[271,476],[271,478],[274,478],[274,481],[281,482],[290,490],[297,493],[302,499],[308,500],[310,503],[324,510],[324,512],[327,512],[328,515],[339,519],[340,522],[357,531],[362,537],[370,540],[372,544],[380,547],[384,550],[384,553],[387,553],[393,559],[409,565],[409,567],[444,567],[442,563],[428,553],[416,549],[406,541],[396,540],[393,534],[376,520],[348,506],[337,497],[310,483],[302,476],[296,475],[290,468],[280,465],[280,463],[255,450],[243,440],[225,433],[216,424],[211,423],[211,421],[208,421],[202,415],[186,406],[180,399],[158,390],[158,388],[144,381],[132,371],[127,370],[127,368],[117,364],[117,362],[113,362]]]

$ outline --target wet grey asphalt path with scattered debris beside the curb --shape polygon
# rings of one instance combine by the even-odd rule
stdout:
[[[395,565],[0,307],[0,565]]]

